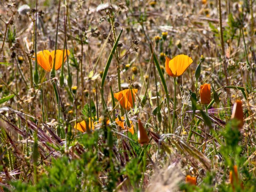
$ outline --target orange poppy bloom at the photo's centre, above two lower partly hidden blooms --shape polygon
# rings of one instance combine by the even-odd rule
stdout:
[[[114,93],[114,98],[116,98],[120,105],[125,108],[133,108],[132,96],[133,101],[135,101],[135,94],[138,93],[138,89],[125,89],[123,91],[119,91],[118,93]]]

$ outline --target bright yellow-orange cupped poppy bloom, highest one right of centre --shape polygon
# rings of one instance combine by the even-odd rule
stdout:
[[[173,59],[165,57],[165,70],[168,75],[176,78],[182,75],[192,62],[191,57],[184,54],[177,55]]]

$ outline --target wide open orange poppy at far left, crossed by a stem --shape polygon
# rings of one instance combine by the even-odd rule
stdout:
[[[49,50],[39,51],[37,53],[37,63],[45,69],[45,71],[51,71],[54,62],[54,50],[49,52]],[[68,55],[70,54],[69,50],[67,50]],[[56,59],[55,59],[55,70],[58,70],[62,63],[64,63],[67,59],[66,51],[64,51],[64,62],[63,60],[63,50],[56,50]],[[33,58],[33,60],[35,60]]]

